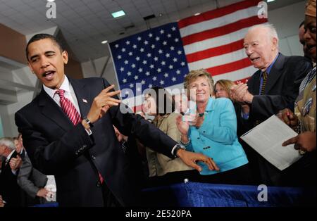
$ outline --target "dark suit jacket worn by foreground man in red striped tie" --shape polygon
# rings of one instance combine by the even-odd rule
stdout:
[[[82,117],[87,115],[94,97],[109,86],[102,78],[69,80]],[[137,137],[170,157],[176,144],[147,120],[123,113],[119,106],[113,106],[95,122],[92,136],[88,136],[81,123],[73,126],[44,89],[15,113],[15,123],[23,134],[23,144],[33,166],[46,175],[55,175],[57,201],[61,206],[104,206],[97,171],[123,206],[135,205],[139,191],[135,180],[130,179],[129,173],[133,171],[126,166],[126,156],[113,125],[121,133]]]

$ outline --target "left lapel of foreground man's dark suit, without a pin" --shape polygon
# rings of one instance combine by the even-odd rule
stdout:
[[[73,127],[73,123],[69,120],[68,116],[63,113],[61,107],[57,105],[49,94],[46,94],[43,88],[39,94],[39,108],[42,109],[43,115],[53,120],[63,130],[67,131]]]

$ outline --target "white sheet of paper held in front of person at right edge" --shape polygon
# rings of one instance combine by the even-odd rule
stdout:
[[[297,133],[292,128],[272,115],[268,120],[243,134],[241,139],[276,168],[284,170],[302,158],[299,151],[294,149],[294,144],[282,146],[284,141],[295,136]]]

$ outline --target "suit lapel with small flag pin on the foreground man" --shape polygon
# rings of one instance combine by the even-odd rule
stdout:
[[[92,106],[89,89],[87,88],[87,85],[80,80],[71,79],[70,77],[68,77],[68,80],[75,91],[78,106],[80,108],[80,115],[82,118],[85,118],[90,110],[90,106]]]

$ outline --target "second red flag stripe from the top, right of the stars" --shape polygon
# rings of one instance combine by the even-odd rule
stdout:
[[[231,32],[236,32],[237,30],[241,30],[242,28],[245,28],[245,27],[250,27],[253,25],[259,25],[261,23],[266,23],[267,21],[268,19],[266,18],[260,19],[257,16],[244,18],[242,20],[238,20],[235,23],[230,23],[228,25],[216,27],[211,30],[206,30],[204,32],[190,34],[190,35],[187,35],[186,37],[182,37],[182,44],[185,46],[187,44],[192,44],[194,42],[204,41],[206,39],[211,39],[213,37],[218,37],[225,34],[229,34]]]

